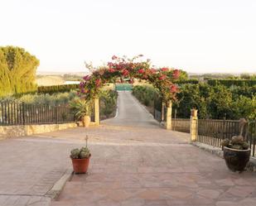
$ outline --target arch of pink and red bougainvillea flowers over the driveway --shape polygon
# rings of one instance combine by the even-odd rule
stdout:
[[[158,89],[164,103],[176,100],[178,87],[175,84],[181,71],[179,69],[156,68],[150,60],[142,60],[142,55],[128,59],[127,57],[113,56],[107,65],[99,69],[92,69],[80,82],[80,96],[85,99],[98,98],[100,89],[104,84],[122,82],[129,79],[133,84],[134,79],[146,80]]]

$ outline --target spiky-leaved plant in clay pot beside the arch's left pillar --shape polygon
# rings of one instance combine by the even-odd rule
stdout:
[[[82,121],[83,127],[89,127],[91,102],[79,98],[72,101],[70,107],[74,109],[75,117]]]

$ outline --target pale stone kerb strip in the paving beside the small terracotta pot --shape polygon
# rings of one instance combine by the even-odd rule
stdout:
[[[71,179],[73,175],[73,170],[66,170],[65,174],[53,185],[53,187],[46,193],[46,197],[51,199],[57,199],[60,195],[60,192],[65,186],[65,183]]]

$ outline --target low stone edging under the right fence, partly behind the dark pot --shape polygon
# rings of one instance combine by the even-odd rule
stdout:
[[[197,146],[201,150],[208,151],[215,156],[219,156],[220,158],[224,158],[223,151],[220,149],[220,147],[206,145],[198,141],[192,141],[191,145]],[[256,158],[250,157],[250,160],[246,166],[246,169],[252,172],[256,172]]]

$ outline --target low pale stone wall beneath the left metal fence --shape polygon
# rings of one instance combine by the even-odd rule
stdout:
[[[77,123],[0,126],[0,140],[78,127]]]

